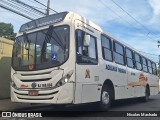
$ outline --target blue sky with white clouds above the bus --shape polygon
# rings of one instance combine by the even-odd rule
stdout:
[[[38,1],[47,4],[47,0]],[[23,2],[45,11],[45,7],[34,0]],[[51,0],[51,8],[58,12],[73,11],[86,17],[106,32],[158,62],[160,0]],[[0,8],[0,22],[12,23],[15,32],[28,21],[30,20]]]

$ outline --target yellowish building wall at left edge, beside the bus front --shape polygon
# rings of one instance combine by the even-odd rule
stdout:
[[[0,99],[10,97],[10,71],[13,41],[0,37]]]

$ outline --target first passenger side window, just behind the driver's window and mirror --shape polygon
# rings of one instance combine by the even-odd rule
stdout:
[[[102,55],[103,59],[108,61],[113,61],[113,55],[112,55],[112,42],[110,38],[101,35],[102,40]]]

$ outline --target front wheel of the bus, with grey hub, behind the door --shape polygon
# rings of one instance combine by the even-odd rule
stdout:
[[[112,101],[112,92],[113,91],[109,86],[103,86],[99,103],[99,108],[101,111],[107,111],[110,108]]]

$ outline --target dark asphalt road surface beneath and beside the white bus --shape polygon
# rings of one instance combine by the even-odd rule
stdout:
[[[19,103],[10,103],[10,104],[16,104],[14,107],[9,105],[9,103],[3,103],[6,107],[8,107],[9,111],[20,111],[20,112],[25,112],[25,111],[50,111],[49,113],[53,115],[54,119],[94,119],[94,120],[105,120],[106,115],[110,113],[116,113],[120,114],[123,111],[128,111],[129,113],[132,111],[160,111],[160,95],[157,96],[152,96],[150,97],[150,100],[146,103],[141,102],[139,99],[127,99],[127,100],[118,100],[114,102],[112,105],[112,108],[107,111],[107,112],[100,112],[97,111],[96,107],[94,104],[85,104],[85,105],[76,105],[76,106],[71,106],[68,105],[66,107],[61,107],[57,109],[53,105],[29,105],[29,104],[19,104]],[[0,110],[1,110],[1,103],[0,103]],[[56,111],[59,111],[58,113]],[[75,112],[78,111],[78,112]],[[68,114],[70,117],[64,117]],[[107,117],[107,120],[159,120],[160,117],[116,117],[116,114],[114,114],[115,117]],[[71,116],[74,117],[71,117]],[[77,116],[77,117],[76,117]],[[80,117],[80,118],[79,118]],[[5,119],[5,118],[0,118],[0,119]],[[35,119],[35,120],[52,120],[53,118],[47,117],[47,118],[30,118],[30,119]],[[22,118],[20,119],[22,120]]]

